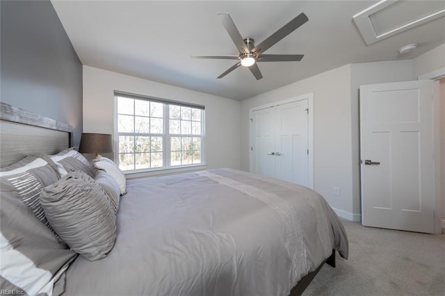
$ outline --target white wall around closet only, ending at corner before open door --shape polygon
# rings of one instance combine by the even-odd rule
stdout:
[[[249,110],[314,92],[314,189],[337,213],[353,219],[350,65],[241,101],[242,168],[248,171]],[[340,196],[332,194],[340,188]]]

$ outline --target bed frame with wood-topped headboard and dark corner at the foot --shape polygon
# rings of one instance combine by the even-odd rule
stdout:
[[[0,167],[28,155],[55,154],[72,145],[72,126],[0,102]],[[314,272],[302,277],[289,296],[302,295],[327,263],[335,267],[335,250]]]

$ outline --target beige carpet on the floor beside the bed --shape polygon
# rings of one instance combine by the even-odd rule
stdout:
[[[363,227],[342,220],[349,258],[324,265],[303,295],[445,295],[445,234]]]

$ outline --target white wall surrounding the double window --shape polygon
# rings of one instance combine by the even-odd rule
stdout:
[[[241,168],[239,101],[83,66],[83,132],[114,132],[115,90],[204,105],[207,168]]]

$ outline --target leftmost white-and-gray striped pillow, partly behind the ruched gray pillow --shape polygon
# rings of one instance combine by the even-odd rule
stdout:
[[[51,167],[51,163],[35,156],[26,156],[21,161],[0,169],[0,192],[2,197],[10,195],[21,199],[26,206],[29,206],[35,217],[53,231],[59,242],[67,247],[51,228],[40,205],[42,188],[55,183],[58,179],[60,176],[54,167]]]

